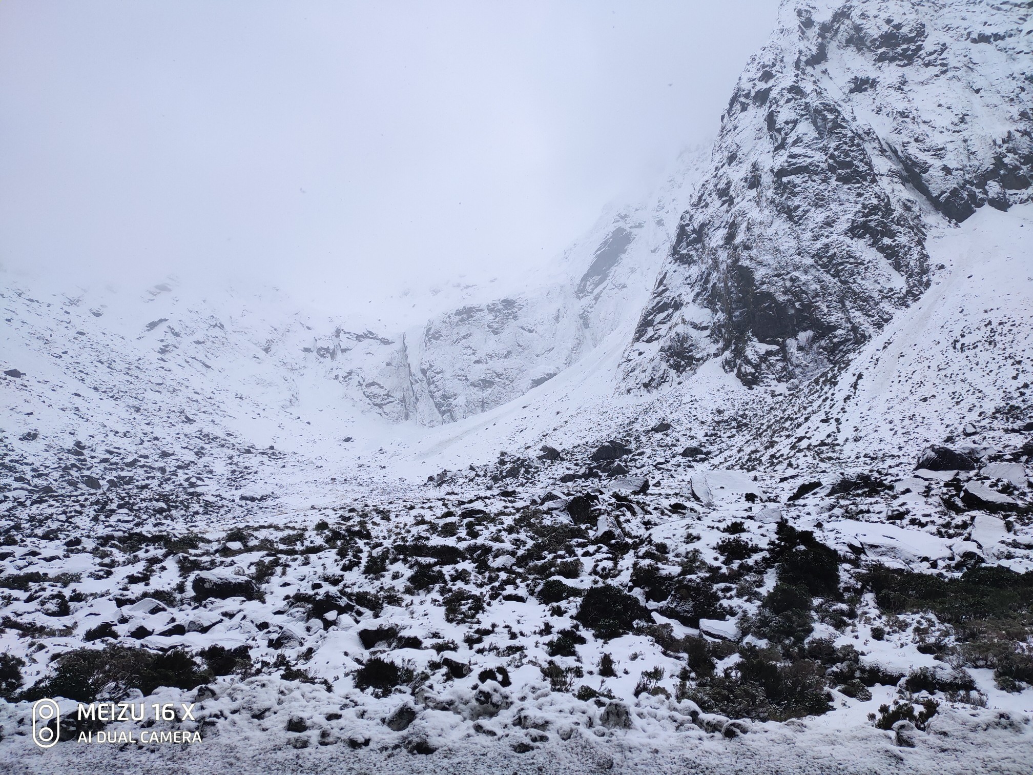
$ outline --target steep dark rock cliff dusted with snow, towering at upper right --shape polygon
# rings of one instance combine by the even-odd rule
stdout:
[[[930,283],[926,224],[1029,198],[1018,3],[785,4],[747,65],[624,364],[746,384],[842,361]]]

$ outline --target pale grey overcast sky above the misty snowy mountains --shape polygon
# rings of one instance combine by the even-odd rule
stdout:
[[[775,0],[0,3],[0,261],[334,304],[554,256],[711,138]]]

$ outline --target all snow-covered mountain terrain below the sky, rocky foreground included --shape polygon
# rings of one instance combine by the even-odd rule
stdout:
[[[712,154],[418,327],[0,276],[0,762],[1028,771],[1031,17],[786,2]]]

